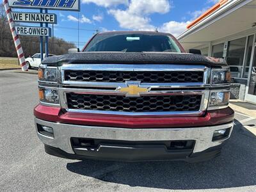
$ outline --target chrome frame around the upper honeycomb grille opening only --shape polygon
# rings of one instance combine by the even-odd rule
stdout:
[[[165,87],[191,87],[191,86],[207,86],[210,74],[209,68],[203,65],[124,65],[124,64],[67,64],[61,67],[61,84],[63,86],[87,86],[87,87],[116,87],[125,83],[109,83],[109,82],[92,82],[92,81],[67,81],[65,80],[65,70],[93,70],[93,71],[124,71],[124,72],[204,72],[204,81],[191,83],[157,83],[159,86]],[[146,84],[141,82],[141,84]],[[149,83],[147,83],[149,84]],[[155,83],[154,83],[155,84]],[[150,84],[151,86],[152,84]],[[155,84],[156,85],[156,84]]]

